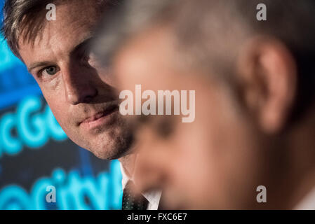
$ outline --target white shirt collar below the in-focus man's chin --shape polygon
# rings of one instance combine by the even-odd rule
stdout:
[[[121,185],[122,185],[123,189],[125,189],[128,181],[133,181],[133,178],[128,177],[128,175],[126,174],[125,169],[123,168],[121,163],[119,163],[119,165],[121,168],[121,176],[123,177],[121,180]],[[159,202],[160,202],[161,195],[162,195],[161,190],[152,190],[152,191],[149,191],[146,193],[142,193],[142,195],[149,202],[147,210],[157,210],[159,208]]]

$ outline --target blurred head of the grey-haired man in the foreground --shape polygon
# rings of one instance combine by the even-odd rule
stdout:
[[[138,183],[172,208],[292,208],[315,184],[314,1],[127,2],[96,50],[121,90],[196,90],[194,123],[130,118]]]

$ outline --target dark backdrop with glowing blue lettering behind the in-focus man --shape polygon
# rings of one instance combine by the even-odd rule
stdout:
[[[55,203],[46,202],[47,186]],[[120,209],[121,194],[119,162],[69,141],[0,36],[0,209]]]

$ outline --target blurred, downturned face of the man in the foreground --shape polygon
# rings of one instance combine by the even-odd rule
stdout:
[[[182,116],[128,118],[138,127],[138,186],[162,188],[168,209],[236,209],[256,203],[261,166],[255,130],[227,87],[211,74],[180,69],[177,58],[168,31],[157,29],[128,41],[114,61],[121,90],[134,95],[136,84],[142,92],[196,91],[193,123],[182,123]]]

